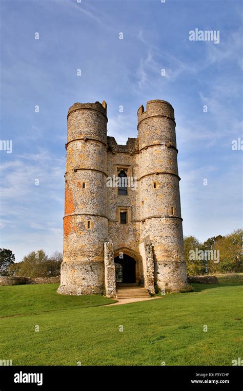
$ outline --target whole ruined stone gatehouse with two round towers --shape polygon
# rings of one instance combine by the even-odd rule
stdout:
[[[115,296],[123,283],[151,294],[185,289],[174,110],[164,100],[140,106],[138,138],[127,145],[107,137],[106,110],[103,101],[68,111],[58,293]]]

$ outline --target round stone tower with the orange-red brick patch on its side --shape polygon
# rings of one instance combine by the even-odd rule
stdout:
[[[107,104],[75,103],[68,111],[62,294],[99,294],[107,240]]]

